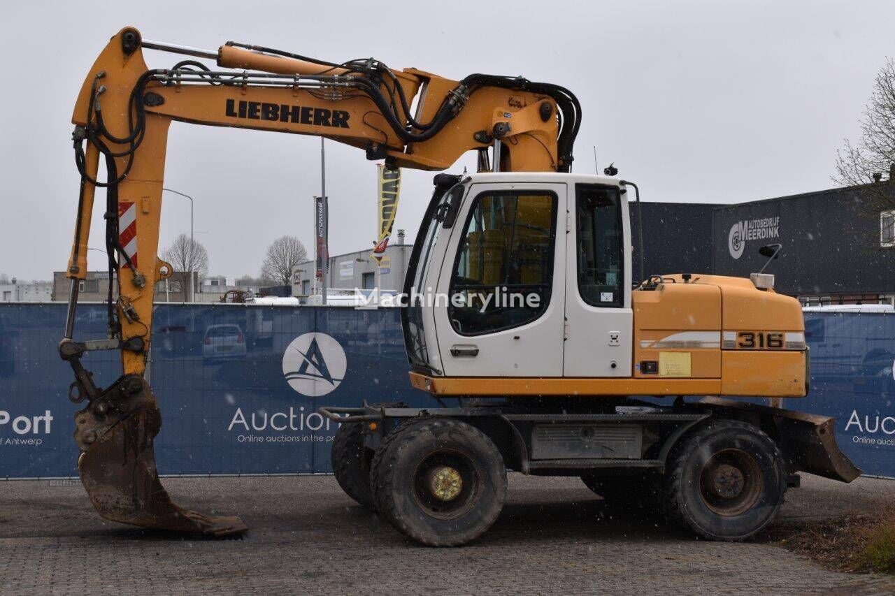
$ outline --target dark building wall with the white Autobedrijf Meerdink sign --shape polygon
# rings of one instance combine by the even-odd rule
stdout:
[[[763,244],[782,243],[765,271],[783,294],[891,293],[895,251],[880,246],[879,187],[808,192],[712,209],[712,269],[748,277],[766,258]],[[895,195],[895,186],[883,189]]]

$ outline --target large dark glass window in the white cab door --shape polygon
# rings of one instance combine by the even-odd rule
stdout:
[[[557,197],[488,192],[475,198],[451,278],[451,325],[465,336],[524,325],[547,310]]]

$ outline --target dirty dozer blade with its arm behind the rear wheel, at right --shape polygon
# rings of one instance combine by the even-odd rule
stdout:
[[[807,472],[850,482],[861,475],[836,442],[836,419],[767,405],[704,397],[701,404],[770,416],[777,424],[778,444],[791,472]]]

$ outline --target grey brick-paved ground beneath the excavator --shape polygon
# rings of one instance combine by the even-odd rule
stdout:
[[[164,479],[184,505],[239,513],[243,540],[183,539],[108,523],[80,483],[0,481],[4,593],[891,594],[882,575],[825,570],[762,541],[697,541],[626,514],[577,479],[510,476],[479,541],[431,549],[354,505],[331,476]],[[874,512],[895,481],[805,476],[781,520]]]

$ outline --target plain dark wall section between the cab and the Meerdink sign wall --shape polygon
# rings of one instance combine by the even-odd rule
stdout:
[[[644,277],[712,273],[712,209],[708,203],[641,203],[644,218]],[[640,276],[640,222],[629,204],[634,277]]]

